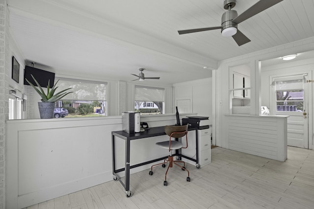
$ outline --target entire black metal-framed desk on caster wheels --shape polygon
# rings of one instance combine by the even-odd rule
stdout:
[[[198,135],[197,135],[197,128],[189,128],[188,131],[195,131],[195,137],[196,137],[196,160],[187,156],[182,155],[181,153],[179,153],[179,150],[176,150],[176,154],[179,157],[183,157],[186,158],[188,160],[191,160],[193,162],[196,162],[196,167],[199,168],[199,164],[198,164]],[[112,174],[113,174],[113,179],[114,180],[119,180],[120,183],[122,184],[122,186],[124,186],[125,190],[126,190],[126,195],[127,197],[131,196],[131,191],[130,191],[130,168],[134,168],[134,167],[138,167],[141,165],[145,165],[145,164],[149,164],[149,163],[154,163],[157,161],[161,161],[166,159],[168,156],[162,157],[162,158],[158,158],[155,160],[151,160],[151,161],[147,161],[144,163],[138,163],[135,165],[130,165],[130,142],[131,140],[135,140],[135,139],[143,139],[143,138],[149,138],[149,137],[157,137],[157,136],[162,136],[162,135],[166,135],[166,133],[164,132],[164,126],[160,126],[160,127],[153,127],[153,128],[149,128],[146,129],[144,132],[139,132],[139,133],[134,133],[134,134],[128,134],[127,132],[124,131],[112,131],[111,132],[111,137],[112,137]],[[120,168],[120,169],[116,169],[116,165],[115,165],[115,151],[114,151],[114,139],[115,136],[121,139],[125,140],[125,167],[124,168]],[[121,172],[121,171],[125,171],[125,182],[122,182],[122,180],[120,179],[120,177],[117,175],[117,173]]]

